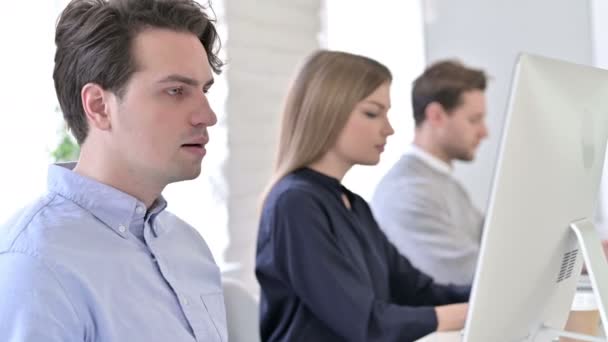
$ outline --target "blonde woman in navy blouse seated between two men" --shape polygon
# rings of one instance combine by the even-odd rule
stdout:
[[[413,341],[464,324],[467,304],[453,303],[470,288],[414,268],[340,182],[377,164],[393,134],[391,79],[377,61],[322,50],[294,81],[257,244],[263,341]]]

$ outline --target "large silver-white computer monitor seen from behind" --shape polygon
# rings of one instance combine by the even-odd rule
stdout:
[[[607,140],[608,71],[519,57],[464,341],[552,341],[551,328],[567,320],[583,257],[593,263],[592,283],[599,279],[593,285],[608,285],[590,223]]]

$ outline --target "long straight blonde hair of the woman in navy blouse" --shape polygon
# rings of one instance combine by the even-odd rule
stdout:
[[[281,178],[323,157],[357,103],[391,80],[390,70],[368,57],[328,50],[310,55],[287,95],[274,173],[262,203]]]

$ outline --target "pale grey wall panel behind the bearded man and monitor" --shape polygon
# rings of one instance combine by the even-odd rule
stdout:
[[[456,177],[485,211],[512,71],[521,51],[593,62],[589,0],[423,0],[427,62],[458,57],[492,77],[487,91],[490,137]]]

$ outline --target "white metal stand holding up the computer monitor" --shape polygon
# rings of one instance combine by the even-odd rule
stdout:
[[[598,310],[602,319],[604,336],[608,336],[608,316],[606,316],[606,308],[608,308],[608,262],[602,248],[602,243],[598,237],[595,226],[588,219],[581,219],[570,223],[570,228],[576,234],[578,244],[583,254],[583,260],[587,267],[587,273],[591,280],[591,286],[595,294]],[[598,336],[589,336],[574,332],[553,329],[551,327],[542,327],[544,333],[550,333],[554,336],[568,337],[578,339],[579,341],[590,342],[606,342],[606,338]]]

